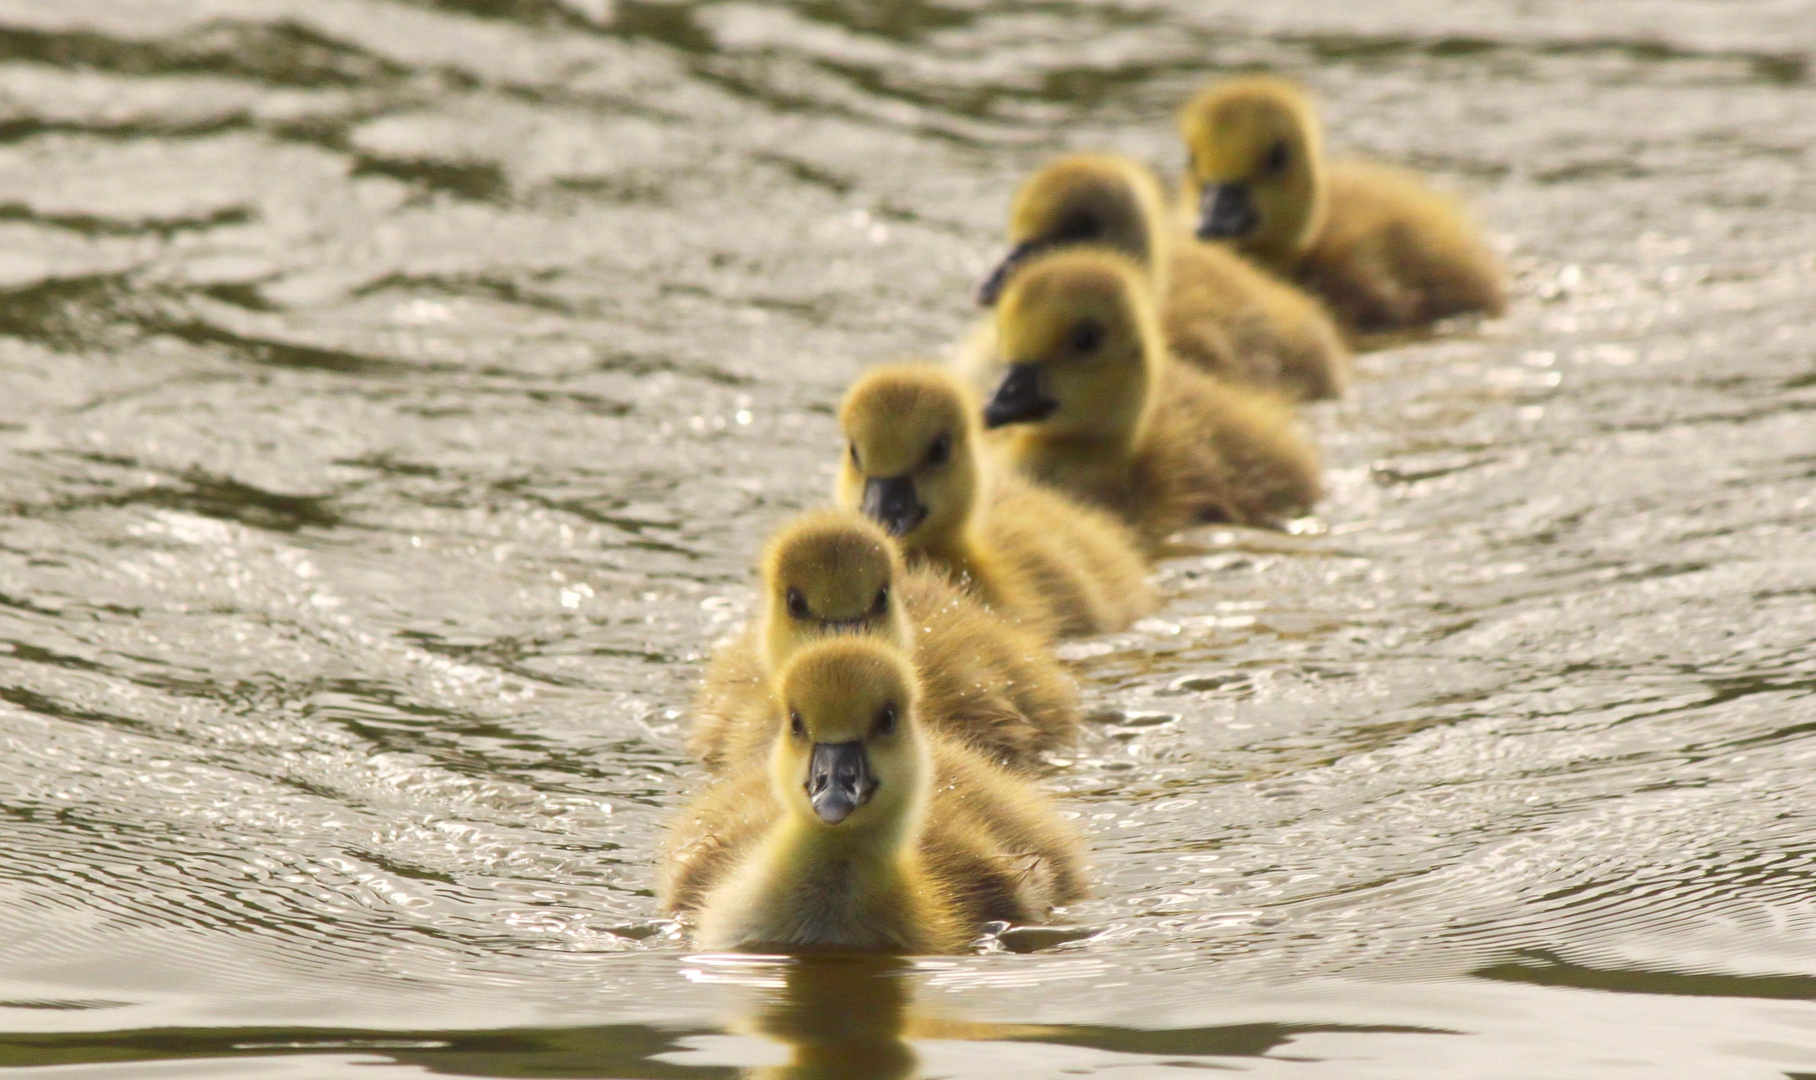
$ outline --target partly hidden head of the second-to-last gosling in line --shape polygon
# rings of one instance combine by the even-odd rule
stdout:
[[[1017,267],[1059,247],[1102,245],[1159,270],[1164,218],[1160,182],[1140,163],[1117,154],[1059,158],[1015,192],[1010,254],[977,287],[977,303],[993,307]]]

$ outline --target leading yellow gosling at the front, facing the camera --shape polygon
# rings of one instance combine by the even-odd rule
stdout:
[[[921,724],[913,666],[843,637],[777,677],[766,762],[672,826],[661,902],[708,949],[952,953],[1084,893],[1082,846],[1026,781]]]

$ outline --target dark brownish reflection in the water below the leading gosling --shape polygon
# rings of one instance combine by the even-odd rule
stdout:
[[[765,1080],[904,1080],[919,1060],[904,1042],[913,997],[899,957],[826,955],[788,964],[781,991],[745,1027],[790,1047]]]

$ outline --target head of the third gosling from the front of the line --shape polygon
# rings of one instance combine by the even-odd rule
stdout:
[[[953,545],[979,486],[972,412],[964,387],[933,365],[890,365],[857,379],[839,407],[839,505],[908,550]]]

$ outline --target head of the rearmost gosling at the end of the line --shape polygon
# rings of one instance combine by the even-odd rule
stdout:
[[[1324,227],[1318,116],[1297,85],[1271,76],[1217,83],[1179,114],[1186,198],[1200,240],[1262,258],[1297,258]]]

